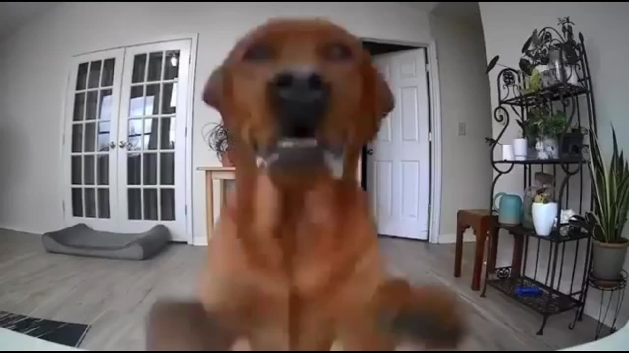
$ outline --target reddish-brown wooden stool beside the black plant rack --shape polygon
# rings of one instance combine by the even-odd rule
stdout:
[[[472,276],[472,290],[481,287],[481,270],[483,252],[487,236],[491,237],[487,269],[493,273],[496,268],[496,254],[498,252],[498,216],[491,215],[489,210],[459,210],[457,213],[457,245],[454,255],[454,276],[461,276],[461,261],[463,260],[463,234],[471,227],[476,236],[476,256],[474,256],[474,274]]]

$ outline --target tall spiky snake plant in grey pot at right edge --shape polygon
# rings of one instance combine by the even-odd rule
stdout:
[[[586,215],[593,236],[592,272],[602,280],[616,280],[625,263],[628,239],[622,237],[629,213],[629,165],[618,151],[616,131],[611,160],[606,162],[598,139],[590,133],[591,158],[588,166],[593,178],[594,207]]]

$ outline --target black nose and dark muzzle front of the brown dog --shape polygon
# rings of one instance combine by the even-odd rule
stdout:
[[[283,137],[313,137],[328,106],[328,85],[314,70],[290,70],[277,73],[272,80]]]

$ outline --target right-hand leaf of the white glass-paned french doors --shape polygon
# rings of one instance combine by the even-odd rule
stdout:
[[[120,231],[169,227],[187,241],[185,138],[190,40],[126,48],[118,126]]]

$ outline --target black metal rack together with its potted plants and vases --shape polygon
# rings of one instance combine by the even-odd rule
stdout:
[[[584,188],[590,183],[591,143],[585,141],[596,136],[584,38],[581,33],[575,38],[573,26],[569,18],[561,18],[559,29],[533,30],[522,46],[518,68],[502,65],[498,56],[487,66],[487,73],[500,67],[493,117],[501,128],[496,138],[486,139],[495,171],[490,209],[498,215],[498,227],[519,245],[513,253],[518,257],[517,267],[509,268],[508,276],[501,277],[501,271],[487,266],[482,296],[489,285],[540,313],[539,335],[550,315],[572,309],[576,315],[581,312],[587,295],[589,250],[584,251],[582,264],[577,263],[577,256],[574,263],[564,261],[567,243],[576,243],[577,254],[579,247],[591,247],[591,228],[584,217],[592,199]],[[508,139],[508,133],[513,133],[513,128],[508,130],[511,124],[520,136]],[[504,193],[494,197],[498,180],[514,171],[523,173],[523,197]],[[499,205],[494,205],[496,198]],[[533,259],[530,273],[533,266],[527,263]],[[569,288],[561,286],[562,278],[570,278]],[[535,293],[523,294],[522,288]]]

